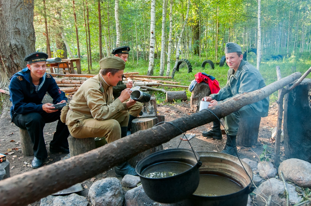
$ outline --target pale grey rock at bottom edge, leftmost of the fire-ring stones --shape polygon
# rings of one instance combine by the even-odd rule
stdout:
[[[88,206],[89,201],[75,193],[66,196],[49,195],[41,199],[40,206]]]

